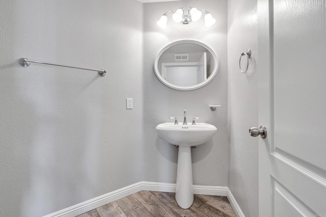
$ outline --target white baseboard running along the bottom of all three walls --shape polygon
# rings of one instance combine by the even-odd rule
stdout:
[[[175,192],[176,184],[141,181],[44,217],[74,217],[139,191]],[[227,196],[238,217],[244,217],[228,187],[194,185],[194,194]]]

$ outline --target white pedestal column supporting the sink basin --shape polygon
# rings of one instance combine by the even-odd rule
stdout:
[[[187,209],[194,202],[192,152],[190,146],[179,146],[175,199]]]

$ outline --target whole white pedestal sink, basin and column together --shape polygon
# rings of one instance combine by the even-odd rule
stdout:
[[[209,141],[216,130],[215,126],[208,123],[161,123],[156,127],[159,137],[179,146],[175,199],[183,209],[191,207],[194,202],[191,147]]]

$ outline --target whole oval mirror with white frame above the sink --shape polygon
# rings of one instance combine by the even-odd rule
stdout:
[[[154,72],[158,80],[177,90],[193,90],[208,84],[219,69],[214,51],[193,40],[173,42],[157,55]]]

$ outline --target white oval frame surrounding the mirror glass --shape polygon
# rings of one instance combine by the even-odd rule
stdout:
[[[159,62],[159,58],[160,56],[169,48],[171,48],[174,45],[178,45],[178,44],[183,44],[183,43],[192,43],[192,44],[196,44],[196,45],[200,45],[202,47],[204,47],[205,49],[207,49],[211,56],[214,59],[214,68],[211,72],[211,74],[209,75],[209,77],[198,84],[195,85],[191,85],[191,86],[180,86],[180,85],[176,85],[173,83],[168,82],[166,79],[164,79],[158,69],[158,62]],[[218,73],[218,69],[219,69],[219,59],[218,56],[215,54],[215,52],[206,44],[199,42],[199,41],[195,41],[195,40],[180,40],[180,41],[176,41],[173,42],[171,44],[168,44],[167,46],[165,46],[163,49],[161,49],[161,51],[157,54],[156,58],[155,58],[155,62],[154,62],[154,73],[156,75],[156,77],[158,78],[158,80],[160,82],[162,82],[163,84],[165,84],[166,86],[172,88],[172,89],[177,89],[177,90],[194,90],[194,89],[198,89],[201,88],[203,86],[205,86],[206,84],[208,84],[210,81],[212,81],[212,79],[215,77],[215,75]]]

